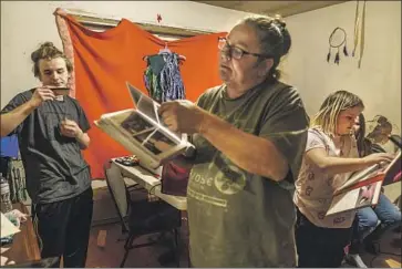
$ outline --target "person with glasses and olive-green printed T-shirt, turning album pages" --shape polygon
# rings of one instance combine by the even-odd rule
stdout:
[[[297,90],[279,81],[290,44],[279,18],[246,18],[219,39],[224,84],[197,104],[159,107],[196,147],[187,187],[194,267],[296,266],[292,194],[308,116]]]

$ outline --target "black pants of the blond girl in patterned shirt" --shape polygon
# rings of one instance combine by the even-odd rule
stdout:
[[[338,268],[350,242],[351,228],[318,227],[298,210],[295,236],[298,267]]]

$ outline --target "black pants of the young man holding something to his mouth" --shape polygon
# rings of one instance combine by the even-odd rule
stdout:
[[[92,188],[89,188],[73,198],[32,207],[42,258],[63,257],[64,268],[85,267],[92,198]]]

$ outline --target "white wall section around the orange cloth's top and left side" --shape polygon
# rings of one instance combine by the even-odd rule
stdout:
[[[133,22],[156,23],[212,31],[228,31],[245,12],[190,1],[1,1],[1,107],[18,92],[38,84],[30,54],[43,41],[62,49],[53,11],[81,9]]]

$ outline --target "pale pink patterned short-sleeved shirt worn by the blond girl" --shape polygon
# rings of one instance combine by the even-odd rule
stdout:
[[[340,145],[319,128],[308,132],[306,153],[313,148],[324,148],[328,156],[359,157],[357,143],[353,136],[343,136]],[[351,173],[328,175],[317,165],[305,158],[300,174],[296,182],[293,201],[299,210],[316,226],[324,228],[349,228],[354,218],[354,210],[326,216],[332,200],[334,190],[340,187]]]

